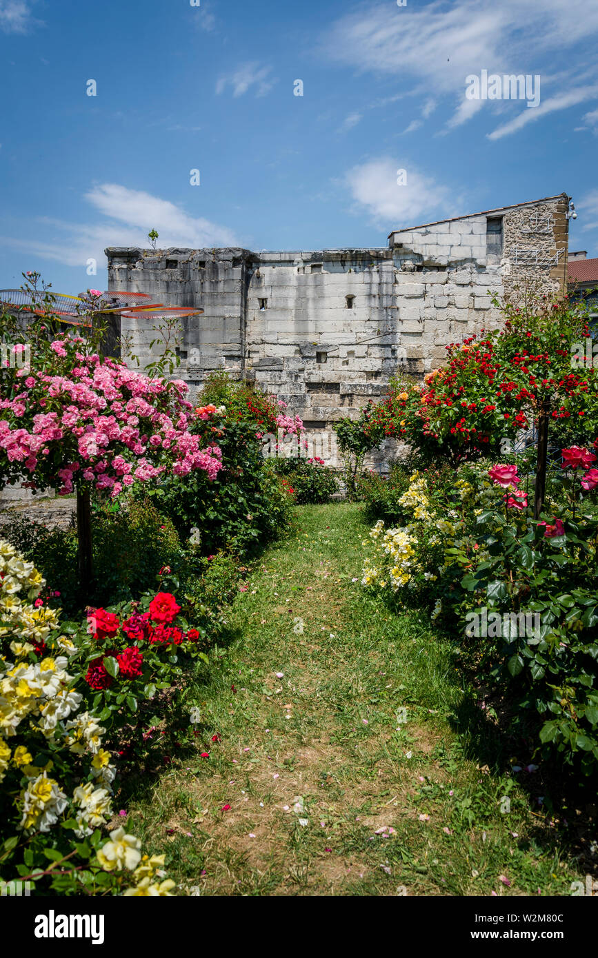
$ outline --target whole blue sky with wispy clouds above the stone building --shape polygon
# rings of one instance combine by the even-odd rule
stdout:
[[[595,0],[0,0],[0,56],[0,286],[105,288],[104,247],[152,228],[383,246],[563,192],[598,256]],[[540,105],[469,100],[482,70],[540,76]]]

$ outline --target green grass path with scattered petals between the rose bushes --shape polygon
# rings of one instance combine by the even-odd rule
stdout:
[[[131,831],[182,894],[570,894],[583,876],[533,785],[489,768],[449,645],[360,587],[358,508],[297,513],[188,690],[191,758],[129,803]]]

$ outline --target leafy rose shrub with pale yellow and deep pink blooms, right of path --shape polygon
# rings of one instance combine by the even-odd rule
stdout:
[[[539,521],[516,465],[466,464],[436,490],[414,474],[402,525],[380,520],[371,531],[362,582],[399,604],[434,603],[432,619],[480,680],[517,703],[512,728],[589,775],[598,771],[598,470],[586,448],[563,457]]]

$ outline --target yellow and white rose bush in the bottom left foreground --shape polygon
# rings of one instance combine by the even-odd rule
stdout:
[[[68,671],[75,644],[51,638],[58,613],[40,604],[44,585],[0,541],[0,882],[30,882],[44,894],[81,894],[81,885],[117,894],[132,880],[127,894],[169,894],[172,884],[154,880],[163,860],[139,872],[138,839],[116,830],[103,845],[115,768],[105,729],[81,708]],[[62,653],[47,653],[47,644]]]

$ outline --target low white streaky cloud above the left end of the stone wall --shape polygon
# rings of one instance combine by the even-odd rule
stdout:
[[[169,246],[201,249],[238,245],[231,230],[209,219],[191,217],[169,200],[129,190],[116,183],[94,187],[85,199],[105,218],[81,224],[40,217],[36,220],[39,225],[31,233],[41,233],[44,239],[3,236],[0,242],[66,266],[84,266],[88,259],[94,259],[98,268],[105,265],[106,246],[147,248],[151,229],[159,233],[158,245],[162,249]]]

